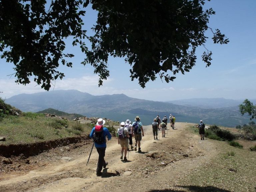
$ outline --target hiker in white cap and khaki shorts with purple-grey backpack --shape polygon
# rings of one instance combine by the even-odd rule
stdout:
[[[124,153],[124,161],[127,161],[126,154],[127,154],[127,148],[128,148],[128,129],[125,126],[125,122],[120,123],[121,127],[117,129],[117,135],[118,135],[118,144],[121,145],[121,157],[120,159],[123,159],[123,153]]]

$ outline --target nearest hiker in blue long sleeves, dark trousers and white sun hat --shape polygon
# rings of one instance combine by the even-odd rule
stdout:
[[[108,137],[108,140],[111,139],[111,134],[108,131],[106,127],[103,127],[105,124],[105,120],[99,118],[96,126],[92,128],[92,131],[90,133],[90,138],[93,138],[95,142],[95,147],[97,149],[97,152],[99,154],[99,159],[98,159],[98,164],[97,164],[97,169],[96,169],[96,175],[100,176],[102,175],[102,167],[105,169],[106,166],[108,165],[108,162],[104,160],[105,157],[105,151],[106,151],[106,136]]]

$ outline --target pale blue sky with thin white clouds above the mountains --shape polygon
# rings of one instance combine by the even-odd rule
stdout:
[[[212,0],[206,2],[206,8],[212,7],[216,12],[211,16],[209,27],[220,29],[230,40],[227,45],[213,44],[211,33],[206,43],[207,49],[213,52],[212,65],[205,67],[201,60],[204,48],[197,49],[197,63],[190,72],[176,75],[173,82],[166,83],[157,78],[141,88],[138,81],[130,79],[130,66],[123,58],[109,58],[110,77],[98,87],[98,76],[90,65],[83,66],[84,55],[79,48],[67,47],[73,53],[73,67],[60,67],[64,79],[52,82],[50,91],[75,89],[92,95],[125,94],[129,97],[170,101],[189,98],[255,99],[256,98],[256,1],[255,0]],[[88,9],[85,25],[88,32],[96,21],[97,13]],[[21,93],[45,91],[33,81],[24,86],[15,83],[14,65],[0,59],[0,97],[5,99]]]

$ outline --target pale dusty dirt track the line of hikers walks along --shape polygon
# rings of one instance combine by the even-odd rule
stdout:
[[[0,173],[0,191],[186,191],[179,187],[182,177],[217,154],[210,140],[201,141],[186,131],[188,125],[177,122],[173,130],[168,124],[168,134],[162,138],[160,133],[160,140],[153,140],[151,125],[143,126],[142,152],[130,151],[127,162],[120,159],[121,147],[113,138],[107,142],[108,166],[101,177],[96,176],[98,153],[95,148],[86,166],[92,145],[45,152],[31,157],[31,165],[26,169]],[[147,157],[152,152],[154,157]]]

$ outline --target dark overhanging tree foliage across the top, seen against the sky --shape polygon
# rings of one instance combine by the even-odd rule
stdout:
[[[62,79],[59,63],[72,67],[65,52],[66,37],[85,53],[82,63],[91,64],[99,75],[99,86],[109,76],[108,57],[124,57],[131,66],[131,80],[141,87],[159,75],[166,82],[175,74],[189,72],[196,63],[195,51],[204,46],[206,30],[213,42],[226,44],[220,30],[207,26],[215,12],[203,10],[205,0],[2,0],[0,1],[1,58],[15,65],[16,82],[30,83],[29,77],[49,90],[51,81]],[[94,35],[88,36],[82,16],[91,5],[98,11]],[[46,9],[46,7],[49,7]],[[88,39],[91,45],[86,45]],[[212,52],[202,60],[211,65]]]

